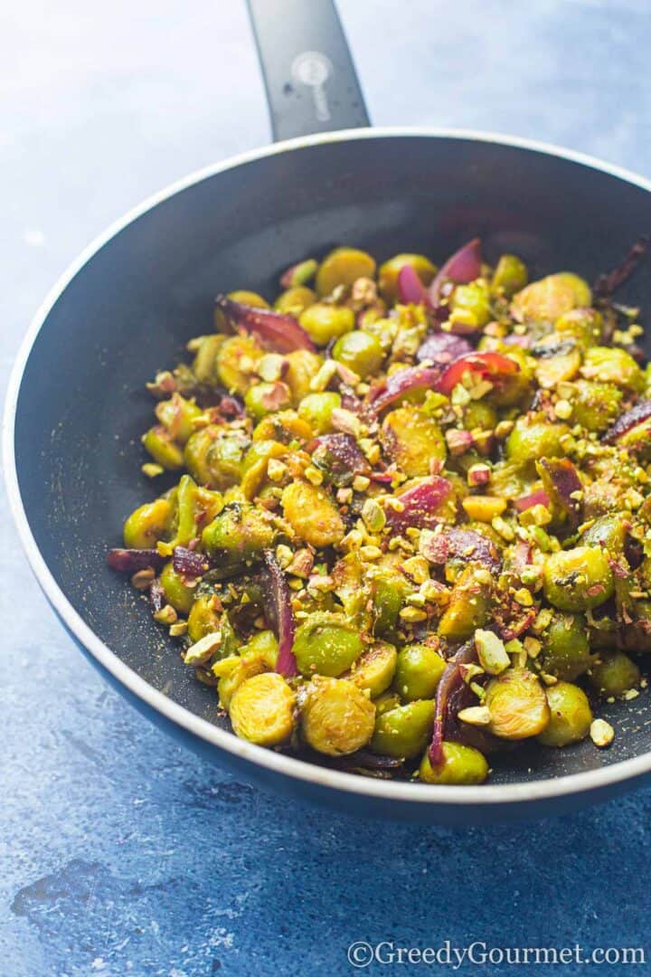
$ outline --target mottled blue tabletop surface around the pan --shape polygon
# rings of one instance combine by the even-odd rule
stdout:
[[[376,124],[495,129],[651,175],[645,0],[340,6]],[[90,238],[268,127],[236,0],[12,5],[0,99],[4,384],[42,295]],[[108,691],[39,594],[4,505],[0,531],[2,977],[344,974],[356,940],[649,954],[651,791],[465,831],[288,807]]]

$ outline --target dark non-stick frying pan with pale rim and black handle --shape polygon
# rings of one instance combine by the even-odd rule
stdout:
[[[357,777],[237,740],[135,591],[105,564],[125,515],[156,489],[139,475],[143,383],[210,329],[213,298],[271,295],[279,273],[339,243],[440,261],[480,234],[534,276],[591,279],[651,226],[651,184],[577,153],[473,132],[370,129],[329,0],[252,0],[273,131],[246,153],[157,193],[67,271],[16,363],[5,468],[40,585],[84,654],[159,726],[238,776],[360,814],[450,824],[566,811],[651,773],[648,697],[604,706],[613,746],[535,747],[485,786]],[[342,131],[343,130],[343,131]],[[309,135],[305,135],[305,134]],[[622,292],[651,307],[651,277]],[[83,677],[81,679],[83,681]]]

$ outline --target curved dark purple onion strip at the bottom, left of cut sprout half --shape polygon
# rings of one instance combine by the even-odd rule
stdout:
[[[497,737],[457,718],[462,709],[477,703],[476,695],[464,681],[462,668],[462,665],[473,664],[476,661],[477,652],[474,642],[468,641],[468,644],[462,645],[455,657],[448,661],[436,687],[434,729],[428,749],[432,767],[440,766],[444,762],[445,741],[474,746],[484,753],[494,752],[500,747]]]

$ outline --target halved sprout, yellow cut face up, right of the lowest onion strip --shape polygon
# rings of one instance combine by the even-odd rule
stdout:
[[[490,732],[502,740],[538,736],[549,723],[545,690],[526,668],[511,668],[491,679],[484,704],[491,715]]]

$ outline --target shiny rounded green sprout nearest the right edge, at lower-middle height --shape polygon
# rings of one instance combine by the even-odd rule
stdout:
[[[587,611],[613,596],[608,556],[596,546],[550,553],[544,568],[545,596],[561,611]]]

